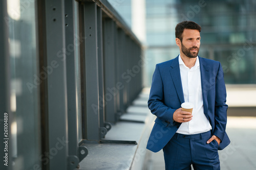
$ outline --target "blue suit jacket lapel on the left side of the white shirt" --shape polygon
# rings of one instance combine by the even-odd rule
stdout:
[[[180,77],[180,66],[179,66],[179,58],[178,57],[176,57],[173,60],[172,64],[170,64],[170,75],[172,76],[173,83],[174,83],[175,89],[178,93],[180,102],[184,103],[185,100],[184,100],[181,77]]]

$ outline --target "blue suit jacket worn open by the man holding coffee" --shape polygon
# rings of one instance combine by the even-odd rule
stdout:
[[[199,62],[204,114],[212,127],[212,135],[221,139],[219,150],[222,150],[230,143],[225,132],[228,106],[223,69],[218,61],[199,57]],[[183,102],[178,57],[157,64],[148,100],[148,108],[157,118],[147,142],[148,150],[160,151],[176,133],[181,123],[173,121],[173,114]]]

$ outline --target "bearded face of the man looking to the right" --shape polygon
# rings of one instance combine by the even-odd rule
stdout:
[[[189,58],[197,57],[200,49],[200,32],[198,30],[184,29],[182,35],[182,53]]]

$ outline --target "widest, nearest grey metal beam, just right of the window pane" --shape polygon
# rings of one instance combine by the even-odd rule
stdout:
[[[68,156],[68,116],[65,49],[64,2],[46,0],[46,42],[47,65],[52,68],[48,74],[48,114],[49,114],[49,167],[67,169]],[[61,145],[61,149],[56,146]]]

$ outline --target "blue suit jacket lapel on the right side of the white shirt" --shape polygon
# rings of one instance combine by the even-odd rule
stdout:
[[[198,58],[199,58],[199,62],[200,62],[201,86],[202,86],[202,93],[203,93],[204,113],[205,113],[206,117],[208,118],[207,96],[208,96],[208,89],[209,89],[210,72],[209,72],[209,67],[208,67],[207,63],[205,63],[205,61],[201,57],[198,57]]]

